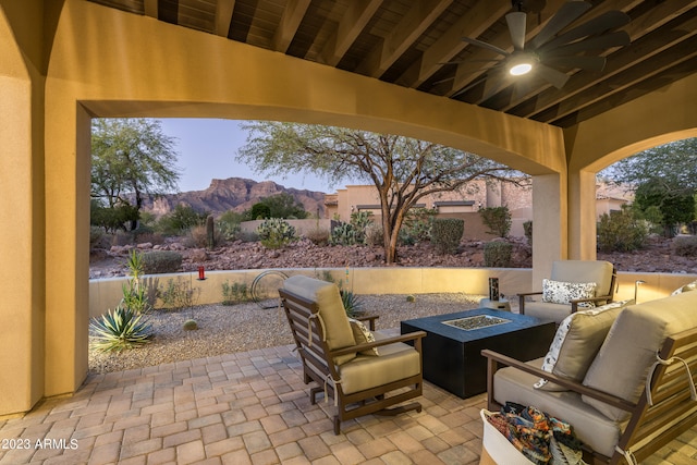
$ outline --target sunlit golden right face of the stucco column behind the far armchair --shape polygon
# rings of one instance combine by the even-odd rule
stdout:
[[[568,173],[568,258],[596,259],[596,173]]]

